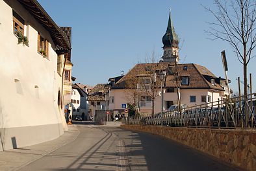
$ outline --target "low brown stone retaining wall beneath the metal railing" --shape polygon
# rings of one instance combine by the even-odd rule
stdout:
[[[256,170],[256,130],[140,125],[122,125],[122,128],[161,135],[246,170]]]

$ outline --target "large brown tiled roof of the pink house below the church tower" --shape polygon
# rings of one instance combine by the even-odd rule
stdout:
[[[168,67],[173,65],[171,62],[162,62],[162,63],[140,63],[137,64],[131,69],[123,78],[121,78],[111,89],[126,89],[128,88],[126,83],[129,78],[133,75],[136,76],[147,76],[145,72],[146,68],[154,67],[156,70],[168,71]],[[183,70],[183,67],[186,66],[186,71]],[[209,71],[206,67],[203,67],[194,63],[185,63],[178,64],[177,71],[179,76],[188,76],[189,84],[181,85],[181,89],[217,89],[224,91],[223,87],[215,82],[215,85],[211,84],[211,79],[216,80],[217,77]],[[173,74],[168,74],[165,80],[166,87],[176,87],[175,78]]]

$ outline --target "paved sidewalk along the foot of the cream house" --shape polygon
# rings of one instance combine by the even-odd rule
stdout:
[[[0,170],[18,170],[22,166],[44,157],[65,144],[71,143],[77,138],[77,135],[79,135],[79,130],[70,125],[68,126],[68,131],[65,131],[63,135],[52,141],[0,152]]]

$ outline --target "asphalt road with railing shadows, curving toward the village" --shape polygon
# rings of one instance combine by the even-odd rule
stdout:
[[[237,170],[157,135],[77,125],[77,139],[21,170]]]

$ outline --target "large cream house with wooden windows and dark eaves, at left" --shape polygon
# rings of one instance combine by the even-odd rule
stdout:
[[[56,48],[70,43],[37,1],[1,0],[0,14],[0,150],[55,139],[66,129]]]

